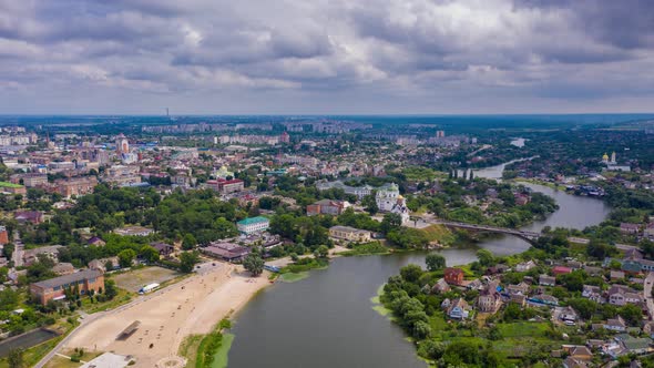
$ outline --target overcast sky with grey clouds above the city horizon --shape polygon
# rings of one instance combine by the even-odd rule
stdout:
[[[654,112],[651,0],[0,0],[0,114]]]

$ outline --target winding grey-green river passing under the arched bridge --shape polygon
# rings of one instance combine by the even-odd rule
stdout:
[[[476,171],[501,177],[505,164]],[[529,184],[551,195],[560,208],[546,219],[524,226],[583,228],[602,222],[610,208],[601,201]],[[448,266],[476,259],[479,248],[495,255],[524,252],[529,244],[512,236],[488,239],[478,247],[439,251]],[[425,367],[402,330],[372,310],[370,298],[386,279],[410,264],[425,265],[426,252],[340,257],[310,277],[276,283],[257,295],[236,317],[229,367]]]

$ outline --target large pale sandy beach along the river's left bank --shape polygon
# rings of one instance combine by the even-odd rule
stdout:
[[[243,307],[269,285],[267,273],[252,278],[242,266],[217,264],[205,273],[142,296],[82,327],[67,348],[132,355],[135,367],[155,367],[162,358],[176,356],[186,335],[207,334],[232,310]],[[117,339],[135,320],[141,326],[130,337]]]

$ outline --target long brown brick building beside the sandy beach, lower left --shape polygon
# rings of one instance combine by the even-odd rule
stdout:
[[[96,269],[86,269],[30,285],[30,294],[41,305],[64,299],[67,289],[79,290],[81,295],[89,294],[90,290],[98,293],[104,289],[104,276]]]

